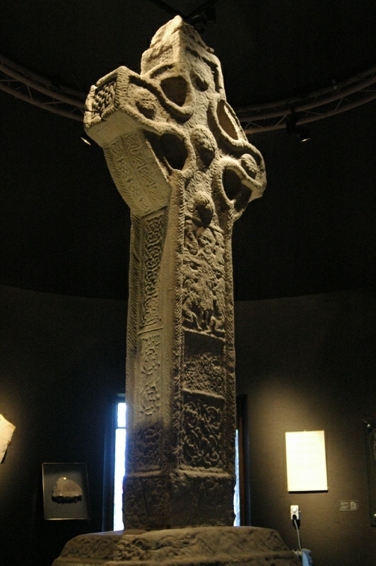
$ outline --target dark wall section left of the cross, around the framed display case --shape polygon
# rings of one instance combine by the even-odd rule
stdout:
[[[0,287],[0,311],[0,413],[17,427],[0,464],[0,564],[50,566],[70,538],[102,531],[126,304]],[[42,462],[87,464],[89,521],[44,520]]]

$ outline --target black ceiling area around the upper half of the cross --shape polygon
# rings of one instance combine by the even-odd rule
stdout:
[[[374,0],[1,0],[0,53],[86,96],[121,64],[139,71],[160,25],[203,4],[233,108],[375,65]],[[0,103],[0,284],[127,298],[129,209],[102,149],[83,144],[80,122],[1,91]],[[250,138],[268,186],[235,224],[235,299],[374,284],[375,128],[373,100],[312,122],[305,144],[284,130]]]

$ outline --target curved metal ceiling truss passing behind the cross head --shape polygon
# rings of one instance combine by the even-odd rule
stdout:
[[[207,3],[209,4],[209,3]],[[210,3],[211,4],[211,3]],[[302,97],[236,108],[246,134],[286,128],[288,117],[302,125],[346,112],[376,98],[376,67]],[[82,122],[86,94],[20,67],[0,55],[0,90],[43,110]]]

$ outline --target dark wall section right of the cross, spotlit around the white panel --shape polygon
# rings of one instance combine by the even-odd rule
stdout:
[[[247,394],[252,525],[315,566],[374,566],[362,420],[376,421],[375,295],[343,291],[237,304],[237,393]],[[285,432],[324,430],[327,492],[287,491]],[[358,501],[356,512],[339,510]]]

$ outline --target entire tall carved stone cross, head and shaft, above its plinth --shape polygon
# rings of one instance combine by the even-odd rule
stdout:
[[[231,234],[264,162],[180,16],[91,88],[86,132],[131,209],[124,525],[233,524]]]

